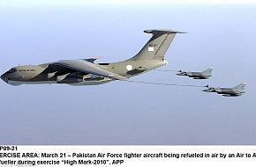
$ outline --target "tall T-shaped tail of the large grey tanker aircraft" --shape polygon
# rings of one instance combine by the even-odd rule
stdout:
[[[174,30],[145,30],[144,33],[152,33],[153,36],[147,41],[147,44],[142,47],[138,54],[132,57],[131,60],[148,60],[148,59],[162,59],[172,40],[177,32]]]

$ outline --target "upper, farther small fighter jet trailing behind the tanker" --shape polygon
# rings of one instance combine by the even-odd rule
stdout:
[[[191,71],[182,71],[179,70],[176,74],[177,76],[189,76],[193,79],[208,79],[210,76],[212,76],[212,70],[213,68],[204,70],[202,72],[191,72]]]

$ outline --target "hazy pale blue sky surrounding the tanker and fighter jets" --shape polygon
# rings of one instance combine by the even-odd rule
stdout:
[[[106,3],[108,2],[108,3]],[[112,82],[99,86],[0,82],[2,144],[256,144],[256,3],[252,0],[0,0],[0,73],[13,66],[101,56],[132,57],[150,35],[177,34],[162,69],[214,68],[209,80],[148,72],[133,79],[232,87]]]

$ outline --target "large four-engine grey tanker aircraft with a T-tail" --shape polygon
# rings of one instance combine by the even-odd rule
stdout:
[[[138,54],[122,62],[95,63],[96,59],[64,60],[11,68],[1,78],[7,84],[96,85],[125,80],[167,64],[165,54],[177,32],[145,30],[153,36]]]

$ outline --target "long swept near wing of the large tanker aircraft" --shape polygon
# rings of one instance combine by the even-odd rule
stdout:
[[[105,69],[102,69],[102,68],[96,66],[92,62],[87,62],[84,60],[58,61],[58,62],[51,63],[51,65],[61,66],[66,69],[77,70],[79,72],[94,74],[96,76],[105,76],[105,77],[109,77],[109,78],[113,78],[113,79],[117,79],[117,80],[127,79],[124,76],[119,76],[117,74],[114,74],[112,72],[109,72]]]

